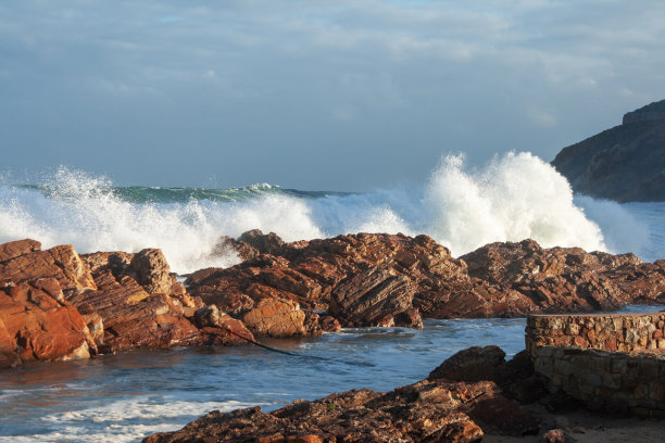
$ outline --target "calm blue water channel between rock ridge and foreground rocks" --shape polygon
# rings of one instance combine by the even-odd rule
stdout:
[[[652,312],[662,306],[629,306]],[[426,320],[423,330],[344,329],[321,338],[265,340],[259,347],[127,352],[0,371],[0,442],[136,442],[213,409],[260,405],[422,380],[472,345],[524,349],[525,319]]]

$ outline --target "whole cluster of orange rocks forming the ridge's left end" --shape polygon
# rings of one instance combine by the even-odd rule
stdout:
[[[253,339],[240,320],[197,327],[203,306],[171,274],[162,252],[79,256],[23,240],[0,245],[0,367],[27,360],[88,358],[98,352]]]

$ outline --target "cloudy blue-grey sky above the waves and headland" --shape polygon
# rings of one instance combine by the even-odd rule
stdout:
[[[0,174],[368,191],[665,99],[665,2],[0,2]]]

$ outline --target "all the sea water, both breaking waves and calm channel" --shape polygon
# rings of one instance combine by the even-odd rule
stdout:
[[[0,242],[34,238],[79,253],[161,248],[187,274],[238,263],[212,253],[221,236],[259,228],[286,241],[347,232],[427,233],[459,256],[493,241],[665,257],[665,202],[618,204],[574,195],[549,164],[505,154],[485,168],[448,156],[421,185],[371,192],[115,186],[61,167],[0,177]],[[627,309],[653,307],[627,307]],[[136,442],[212,409],[280,407],[354,388],[413,383],[454,352],[524,349],[524,319],[426,320],[423,330],[344,329],[255,347],[127,352],[0,371],[0,442]],[[310,357],[334,357],[323,360]]]

